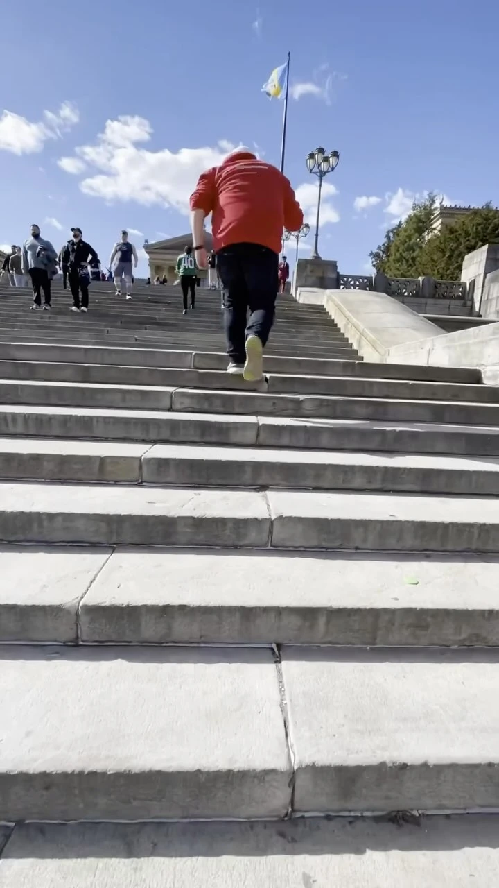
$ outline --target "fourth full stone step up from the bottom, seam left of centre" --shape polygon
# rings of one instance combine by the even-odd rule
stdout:
[[[499,459],[0,438],[0,478],[499,496]]]

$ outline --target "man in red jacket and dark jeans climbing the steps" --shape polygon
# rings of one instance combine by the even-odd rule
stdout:
[[[297,231],[303,212],[289,180],[241,147],[221,166],[203,172],[191,195],[195,258],[201,268],[207,266],[203,225],[210,213],[225,290],[227,370],[257,382],[273,325],[282,229]]]

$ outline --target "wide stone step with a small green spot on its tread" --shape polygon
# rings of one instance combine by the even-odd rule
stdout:
[[[499,646],[493,555],[0,547],[0,641]]]

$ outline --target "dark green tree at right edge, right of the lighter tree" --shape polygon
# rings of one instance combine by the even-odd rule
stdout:
[[[424,244],[419,274],[432,274],[440,281],[459,281],[466,253],[494,241],[499,241],[499,210],[488,202]]]

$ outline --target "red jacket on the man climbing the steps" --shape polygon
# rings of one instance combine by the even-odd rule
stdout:
[[[229,155],[200,176],[191,210],[212,213],[215,251],[232,243],[258,243],[281,252],[282,229],[297,231],[303,212],[289,179],[249,152]]]

